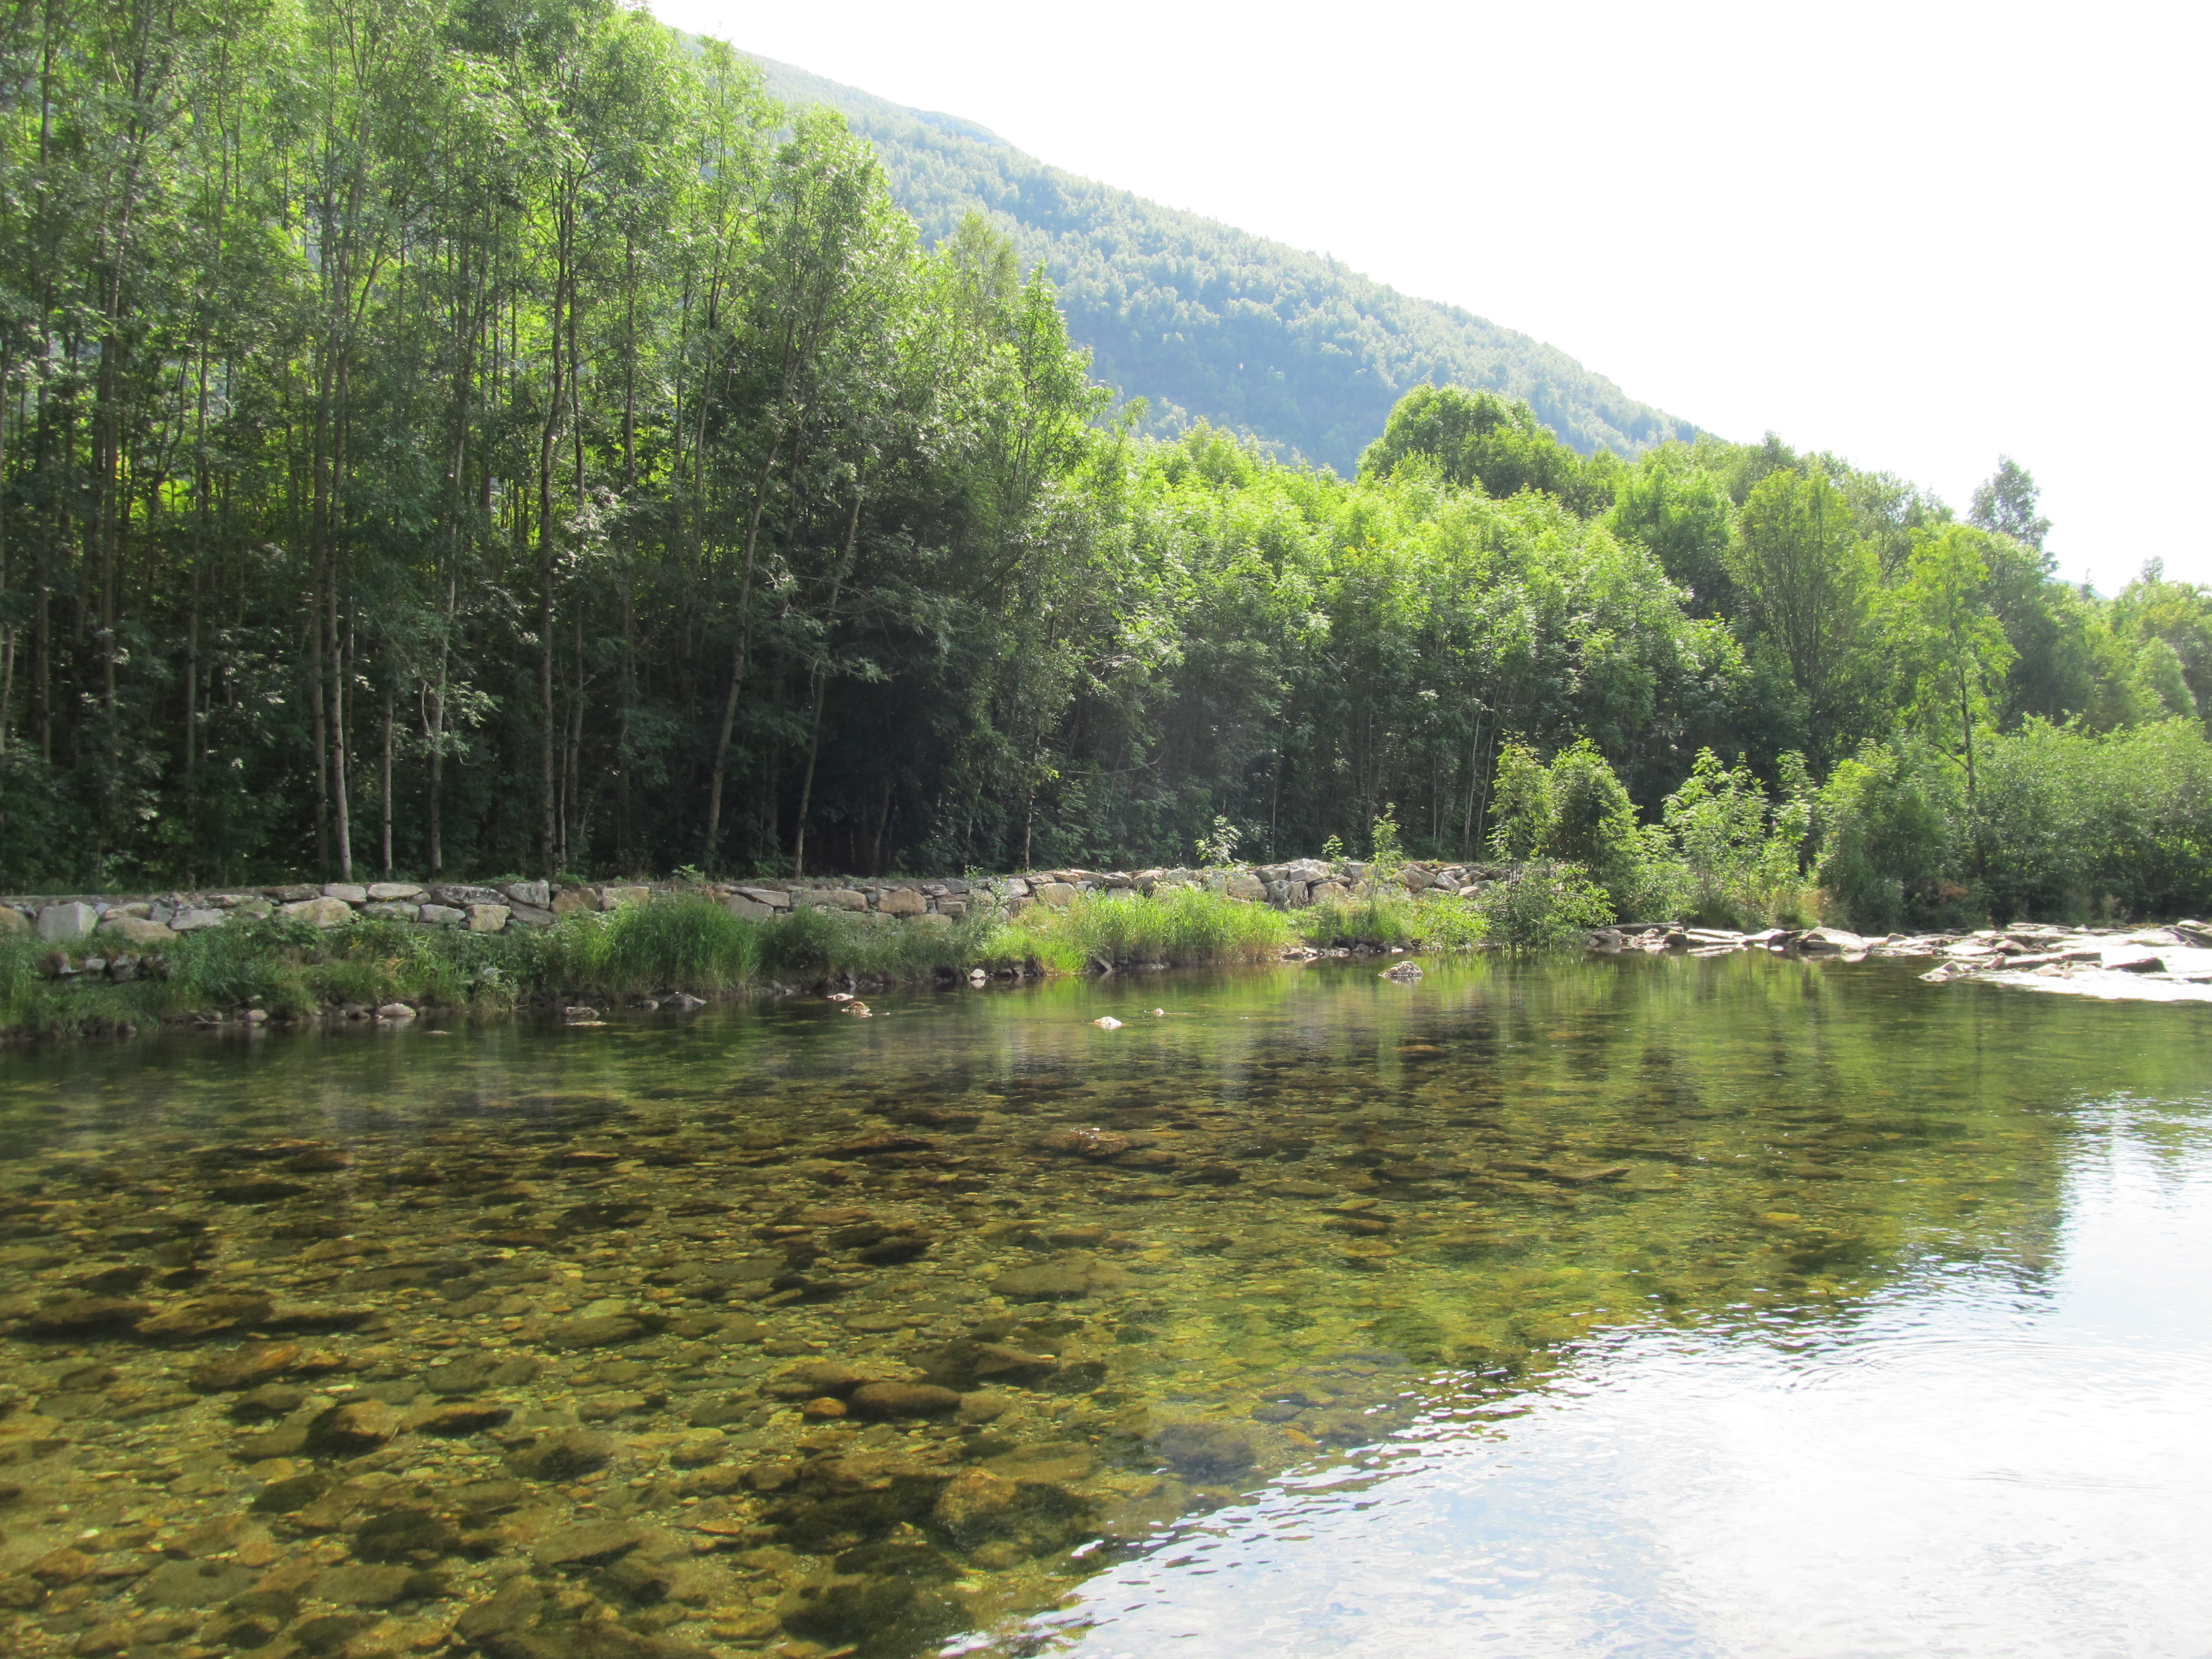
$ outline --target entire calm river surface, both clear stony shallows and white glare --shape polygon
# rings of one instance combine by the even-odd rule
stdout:
[[[529,1593],[465,1637],[2212,1650],[2201,1011],[1770,958],[874,1009],[0,1057],[0,1582],[97,1559],[18,1646]],[[86,1294],[239,1301],[40,1325]],[[387,1440],[314,1438],[363,1398]]]

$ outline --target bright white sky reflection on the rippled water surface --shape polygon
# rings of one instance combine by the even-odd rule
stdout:
[[[1086,1586],[1086,1659],[2212,1652],[2212,1139],[2128,1104],[2062,1267],[1929,1263],[1834,1329],[1595,1340],[1495,1427],[1285,1480]]]

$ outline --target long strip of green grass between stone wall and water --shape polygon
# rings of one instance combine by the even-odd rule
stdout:
[[[980,907],[964,920],[799,909],[759,922],[703,896],[564,916],[526,933],[383,920],[325,931],[268,916],[186,933],[126,982],[49,978],[53,947],[0,936],[0,1035],[91,1035],[239,1009],[270,1018],[385,1002],[502,1011],[533,998],[721,995],[845,978],[916,982],[973,967],[1225,967],[1274,960],[1301,940],[1455,949],[1480,942],[1486,929],[1478,909],[1447,898],[1363,898],[1287,916],[1199,887],[1152,898],[1084,894],[1018,916]],[[97,938],[88,945],[91,953],[115,947]]]

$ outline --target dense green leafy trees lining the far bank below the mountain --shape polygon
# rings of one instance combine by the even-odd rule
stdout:
[[[1794,825],[1869,922],[2205,891],[2212,593],[2055,582],[2011,462],[1960,518],[1455,385],[1352,478],[1155,440],[989,221],[925,239],[838,115],[644,13],[4,29],[0,885],[1387,818],[1599,874]]]

